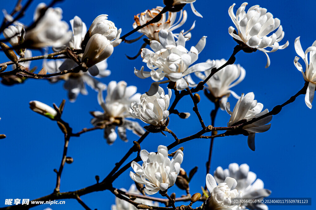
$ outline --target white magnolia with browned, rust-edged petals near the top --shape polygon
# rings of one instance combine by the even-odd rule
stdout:
[[[154,17],[156,17],[163,7],[156,7],[151,10],[147,9],[145,12],[142,12],[141,14],[137,14],[134,16],[135,22],[133,23],[133,28],[137,28],[137,26],[142,26],[152,20]],[[183,17],[182,17],[183,15]],[[181,10],[179,20],[175,23],[177,13],[176,12],[168,12],[168,18],[167,13],[164,13],[161,15],[161,19],[156,23],[151,23],[148,26],[145,26],[144,28],[138,30],[138,32],[143,33],[146,37],[148,37],[150,40],[156,40],[159,42],[158,33],[161,29],[166,30],[167,32],[173,31],[179,27],[181,27],[186,19],[187,19],[187,13],[185,10]],[[182,20],[181,20],[182,18]],[[180,22],[181,20],[181,22]],[[195,21],[191,28],[184,32],[185,38],[191,38],[191,33],[188,33],[195,27]],[[177,35],[177,34],[174,34]]]

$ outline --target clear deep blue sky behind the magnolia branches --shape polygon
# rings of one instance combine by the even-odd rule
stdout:
[[[23,1],[24,2],[24,1]],[[41,1],[34,1],[21,22],[29,24],[33,18],[34,8]],[[48,2],[46,2],[48,3]],[[202,36],[207,36],[206,47],[199,54],[197,62],[207,59],[228,59],[236,43],[228,34],[228,27],[234,26],[228,16],[228,8],[236,3],[237,9],[242,1],[202,1],[194,3],[195,8],[204,17],[199,18],[191,12],[189,5],[184,9],[188,12],[188,20],[181,28],[189,29],[194,20],[197,20],[192,38],[186,44],[187,48],[194,46]],[[239,52],[236,63],[246,70],[245,79],[235,86],[237,94],[254,92],[255,99],[264,104],[264,108],[271,110],[275,105],[282,104],[294,95],[304,85],[301,73],[293,64],[296,56],[294,40],[301,36],[303,50],[311,46],[315,36],[316,19],[314,18],[314,1],[248,1],[249,8],[259,4],[268,9],[274,17],[281,20],[285,36],[280,44],[289,40],[289,47],[269,54],[271,64],[265,69],[266,56],[257,51],[246,54]],[[14,4],[9,1],[1,3],[2,8],[11,11]],[[63,1],[58,3],[64,11],[63,19],[69,23],[75,15],[79,16],[89,27],[99,14],[108,14],[122,34],[132,30],[134,15],[156,6],[163,6],[161,0],[138,1]],[[246,8],[246,9],[247,9]],[[234,10],[236,11],[236,10]],[[178,31],[176,31],[178,32]],[[135,33],[128,39],[136,38]],[[134,67],[140,68],[144,63],[139,57],[128,60],[127,55],[135,55],[142,41],[133,44],[122,43],[114,49],[108,59],[108,69],[112,74],[102,78],[101,81],[109,83],[112,80],[125,80],[128,85],[136,85],[139,93],[149,89],[152,80],[139,79],[133,73]],[[40,55],[34,51],[33,55]],[[0,54],[1,63],[7,61],[4,54]],[[41,68],[40,61],[32,61],[31,67]],[[196,77],[193,77],[198,82]],[[165,86],[163,86],[166,88]],[[63,119],[72,126],[74,131],[92,127],[89,111],[101,111],[97,103],[97,93],[88,88],[87,96],[79,95],[75,103],[66,102]],[[55,122],[46,119],[28,108],[28,102],[39,100],[48,105],[59,104],[66,99],[67,93],[62,88],[62,82],[49,84],[47,81],[28,79],[24,84],[15,86],[0,85],[0,133],[7,135],[0,141],[0,207],[4,207],[4,200],[8,198],[35,199],[52,193],[56,174],[61,160],[64,138]],[[199,105],[204,122],[209,125],[210,111],[214,105],[202,92]],[[172,97],[172,100],[174,96]],[[231,105],[236,99],[230,97]],[[315,104],[315,103],[314,103]],[[200,128],[197,117],[192,111],[193,103],[186,96],[181,99],[177,109],[190,112],[189,119],[179,119],[176,115],[170,116],[168,128],[173,130],[179,138],[196,133]],[[247,146],[247,137],[243,135],[215,139],[211,163],[211,172],[216,167],[227,168],[229,163],[247,163],[250,170],[257,174],[257,178],[264,181],[264,186],[272,190],[270,197],[312,197],[314,192],[315,158],[314,158],[314,126],[316,116],[315,107],[311,110],[305,105],[304,96],[299,96],[296,101],[283,108],[281,113],[273,116],[271,128],[268,132],[256,135],[256,151],[251,151]],[[215,126],[226,126],[229,120],[226,111],[218,111]],[[190,125],[188,125],[190,122]],[[145,123],[140,122],[145,126]],[[72,164],[66,164],[61,180],[61,191],[77,190],[95,183],[94,176],[99,175],[102,180],[119,161],[126,151],[132,146],[137,136],[128,132],[129,142],[120,139],[109,146],[103,139],[103,131],[83,134],[80,138],[70,139],[68,156],[74,158]],[[158,145],[169,145],[173,138],[169,135],[151,133],[143,141],[142,149],[156,151]],[[205,184],[205,162],[207,161],[210,140],[195,139],[184,143],[184,161],[181,167],[186,171],[198,166],[198,171],[190,183],[191,194],[201,191]],[[173,152],[173,151],[171,151]],[[135,154],[134,154],[135,155]],[[134,158],[134,156],[132,156]],[[114,183],[117,188],[128,189],[133,181],[129,177],[131,169],[123,173]],[[185,194],[176,186],[171,192],[177,196]],[[155,195],[155,196],[160,196]],[[91,209],[109,209],[114,203],[114,196],[109,191],[94,192],[82,196],[82,200]],[[179,203],[180,205],[180,203]],[[48,206],[34,207],[34,210],[44,209]],[[196,207],[193,205],[193,207]],[[76,200],[66,200],[66,205],[52,205],[53,210],[81,209]],[[299,207],[300,209],[314,209],[313,206]],[[296,206],[270,206],[269,209],[297,209]]]

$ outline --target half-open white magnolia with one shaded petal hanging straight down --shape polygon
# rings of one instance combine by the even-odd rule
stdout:
[[[229,115],[231,115],[228,126],[233,126],[236,122],[240,120],[250,121],[254,117],[262,116],[268,113],[268,109],[263,109],[263,104],[257,103],[257,100],[254,100],[255,95],[251,93],[247,93],[245,96],[241,94],[240,99],[237,101],[233,112],[230,111],[230,104],[227,102],[226,111]],[[248,135],[248,146],[250,149],[255,150],[255,133],[262,133],[270,129],[271,124],[266,125],[268,122],[272,120],[272,116],[264,117],[257,122],[253,122],[252,124],[246,125],[243,127],[249,135]]]

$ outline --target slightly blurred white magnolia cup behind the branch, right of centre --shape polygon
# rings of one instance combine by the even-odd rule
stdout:
[[[211,60],[207,60],[206,62],[212,62]],[[227,61],[225,59],[215,60],[216,68],[221,67]],[[195,72],[194,74],[200,78],[201,80],[205,80],[211,71],[206,70],[204,74],[201,72]],[[227,103],[227,99],[232,94],[236,99],[239,99],[234,91],[230,90],[230,88],[239,84],[246,76],[246,71],[239,64],[227,65],[222,68],[220,71],[217,71],[207,82],[206,88],[210,91],[210,93],[215,98],[220,98],[220,107],[222,110],[225,110],[225,105]]]

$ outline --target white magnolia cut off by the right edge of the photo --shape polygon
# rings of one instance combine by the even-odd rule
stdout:
[[[296,68],[302,72],[305,81],[308,82],[308,87],[305,94],[305,104],[312,109],[312,102],[314,99],[314,92],[316,87],[316,41],[311,47],[303,51],[300,37],[295,39],[295,51],[305,62],[305,72],[303,71],[302,65],[298,62],[299,57],[295,56],[294,65]],[[309,53],[309,64],[308,64],[308,53]]]

